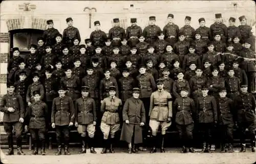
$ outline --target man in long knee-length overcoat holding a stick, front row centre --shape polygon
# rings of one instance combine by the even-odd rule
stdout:
[[[133,97],[127,99],[123,106],[123,120],[120,140],[128,143],[128,153],[138,153],[137,144],[143,142],[142,128],[146,123],[145,108],[139,99],[140,89],[133,88]]]

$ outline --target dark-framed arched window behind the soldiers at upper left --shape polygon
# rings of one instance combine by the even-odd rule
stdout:
[[[10,31],[10,57],[12,57],[12,48],[18,47],[20,56],[24,57],[29,54],[30,44],[37,45],[37,38],[41,37],[44,30],[37,29],[19,29]]]

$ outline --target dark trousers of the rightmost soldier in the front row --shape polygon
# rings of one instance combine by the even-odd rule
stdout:
[[[251,145],[255,146],[255,122],[238,123],[238,130],[241,144],[245,144],[245,130],[248,128]]]

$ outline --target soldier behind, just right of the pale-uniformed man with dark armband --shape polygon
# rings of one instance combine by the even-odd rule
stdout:
[[[190,86],[189,86],[189,83],[187,80],[183,79],[184,78],[184,73],[183,71],[180,71],[178,74],[177,74],[177,80],[174,81],[174,84],[173,84],[173,97],[174,99],[177,99],[180,97],[180,92],[181,92],[181,89],[183,87],[186,87],[187,88],[187,91],[188,91],[188,95],[190,95]]]

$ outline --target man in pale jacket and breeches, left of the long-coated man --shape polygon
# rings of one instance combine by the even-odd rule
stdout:
[[[104,146],[101,154],[106,153],[106,149],[109,147],[109,143],[110,153],[115,153],[113,149],[115,142],[115,133],[120,128],[119,114],[122,111],[122,101],[115,96],[116,90],[117,88],[115,86],[109,87],[109,96],[102,101],[100,107],[101,112],[103,112],[100,129],[103,133],[104,139]]]

